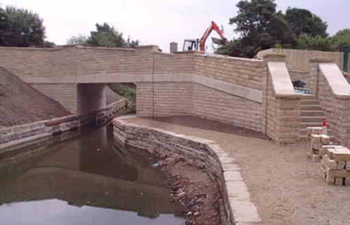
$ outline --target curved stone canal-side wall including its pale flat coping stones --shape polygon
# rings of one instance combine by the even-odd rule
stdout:
[[[215,181],[219,189],[219,224],[235,224],[234,220],[239,224],[261,222],[256,207],[250,202],[249,193],[243,191],[246,187],[239,168],[216,142],[163,129],[142,127],[133,124],[132,120],[124,121],[122,118],[114,119],[113,126],[113,135],[117,142],[142,148],[150,153],[161,148],[161,155],[165,158],[179,155],[181,160],[200,168],[200,171],[211,177],[211,181]]]

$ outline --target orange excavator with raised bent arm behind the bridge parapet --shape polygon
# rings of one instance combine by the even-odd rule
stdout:
[[[208,39],[208,36],[211,34],[211,31],[215,30],[217,34],[219,34],[221,39],[211,38],[214,44],[224,44],[227,42],[227,38],[224,36],[224,32],[219,29],[217,24],[214,21],[211,21],[210,27],[206,29],[202,38],[200,39],[185,39],[183,42],[183,51],[198,51],[198,47],[200,51],[205,51],[205,42]]]

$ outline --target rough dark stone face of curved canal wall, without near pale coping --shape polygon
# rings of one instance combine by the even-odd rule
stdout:
[[[208,142],[200,142],[194,138],[176,135],[170,132],[162,132],[146,127],[125,124],[120,120],[113,120],[113,133],[118,142],[144,150],[157,148],[157,142],[167,146],[176,145],[176,148],[164,149],[165,154],[178,154],[184,157],[185,161],[192,161],[193,166],[201,168],[217,182],[221,194],[218,199],[221,201],[219,216],[221,224],[234,224],[234,217],[230,207],[228,191],[226,188],[224,174],[215,154],[215,149]]]

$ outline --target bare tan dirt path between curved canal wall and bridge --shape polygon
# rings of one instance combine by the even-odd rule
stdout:
[[[261,225],[350,224],[350,187],[326,185],[305,142],[281,146],[255,131],[187,116],[125,120],[218,142],[241,167]]]

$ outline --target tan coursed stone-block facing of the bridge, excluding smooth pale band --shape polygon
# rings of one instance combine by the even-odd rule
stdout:
[[[160,53],[154,46],[137,49],[74,46],[55,50],[0,49],[0,53],[3,52],[8,53],[8,61],[0,64],[5,63],[5,68],[12,68],[18,77],[103,76],[118,73],[152,75],[157,82],[137,83],[139,116],[194,115],[256,131],[263,130],[261,103],[190,82],[191,75],[200,75],[262,91],[267,69],[265,62],[260,60],[204,56],[195,52],[167,54]],[[25,64],[17,58],[25,59]],[[14,62],[11,64],[12,60]],[[158,75],[190,78],[187,81],[165,82],[157,80]],[[33,87],[59,101],[72,113],[77,112],[75,83],[36,83]]]

